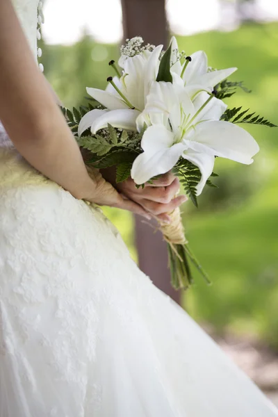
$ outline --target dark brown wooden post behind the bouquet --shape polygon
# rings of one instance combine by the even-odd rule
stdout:
[[[142,36],[146,43],[168,42],[167,20],[164,0],[122,0],[124,39]],[[180,293],[170,285],[167,268],[167,247],[160,232],[154,234],[156,222],[150,227],[136,216],[136,245],[139,266],[154,284],[179,302]]]

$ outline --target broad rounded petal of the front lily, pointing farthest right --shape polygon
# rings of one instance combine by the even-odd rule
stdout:
[[[196,145],[196,142],[199,142],[209,148],[208,152],[215,156],[247,165],[253,162],[252,157],[259,152],[259,145],[250,133],[236,124],[221,120],[198,124],[194,136],[190,139],[191,149],[200,150]],[[202,151],[204,152],[204,148]]]

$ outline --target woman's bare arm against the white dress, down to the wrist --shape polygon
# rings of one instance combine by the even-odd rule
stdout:
[[[0,1],[0,68],[0,120],[15,147],[76,197],[88,195],[94,184],[10,0]]]

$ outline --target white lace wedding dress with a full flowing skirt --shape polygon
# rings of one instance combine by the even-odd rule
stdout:
[[[38,0],[14,3],[36,53]],[[54,416],[278,412],[140,272],[101,210],[28,165],[1,126],[0,417]]]

